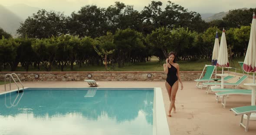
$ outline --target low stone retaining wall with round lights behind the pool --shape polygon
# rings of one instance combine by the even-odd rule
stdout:
[[[5,74],[11,72],[0,72],[0,80],[4,80]],[[81,81],[92,80],[150,80],[164,81],[166,74],[163,71],[101,71],[101,72],[14,72],[21,81]],[[202,71],[181,71],[182,80],[194,80],[200,77]],[[35,75],[39,77],[36,78]],[[89,78],[88,75],[92,77]],[[151,77],[150,75],[151,74]]]

